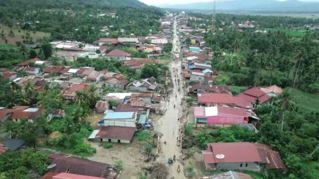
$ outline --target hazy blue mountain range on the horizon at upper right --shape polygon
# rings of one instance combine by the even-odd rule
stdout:
[[[163,8],[213,9],[211,2],[195,2],[177,5],[162,5]],[[319,2],[299,0],[217,0],[217,10],[256,10],[256,11],[319,11]]]

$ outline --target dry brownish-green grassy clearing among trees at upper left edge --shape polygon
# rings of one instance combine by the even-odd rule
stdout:
[[[4,34],[6,36],[6,39],[8,40],[8,44],[15,44],[15,42],[22,42],[22,35],[25,36],[25,33],[23,32],[23,30],[20,30],[17,28],[9,28],[9,27],[5,27],[5,26],[1,26],[0,27],[0,31],[4,31]],[[8,36],[8,33],[10,30],[13,30],[15,37],[11,38]],[[36,42],[38,39],[42,39],[42,37],[49,37],[50,33],[46,33],[46,32],[30,32],[30,36],[32,37],[33,41]],[[0,43],[4,43],[3,39],[0,39]]]

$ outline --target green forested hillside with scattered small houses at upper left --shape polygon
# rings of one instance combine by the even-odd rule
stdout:
[[[116,18],[109,14],[116,13]],[[1,25],[51,33],[51,39],[92,43],[103,26],[113,26],[111,37],[134,33],[145,36],[159,30],[158,8],[138,0],[1,0]],[[125,32],[118,30],[124,29]]]

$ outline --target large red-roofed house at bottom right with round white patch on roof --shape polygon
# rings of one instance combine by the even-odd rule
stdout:
[[[265,144],[249,142],[208,143],[201,151],[206,170],[248,170],[260,172],[267,169],[286,170],[278,152]]]

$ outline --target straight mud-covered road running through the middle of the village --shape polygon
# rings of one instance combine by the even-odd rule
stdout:
[[[174,21],[174,38],[173,38],[173,51],[177,46],[177,29],[175,27],[176,21]],[[183,166],[179,163],[181,160],[181,146],[177,146],[177,137],[179,137],[179,128],[181,127],[180,121],[177,119],[181,117],[182,105],[181,101],[183,98],[183,88],[182,83],[177,83],[178,79],[182,80],[181,75],[181,63],[179,60],[172,61],[170,64],[171,77],[174,83],[174,88],[172,89],[172,93],[169,96],[169,102],[166,103],[167,111],[165,114],[159,119],[159,121],[155,124],[154,130],[163,134],[160,138],[161,150],[160,157],[157,159],[158,162],[162,162],[167,164],[168,158],[172,158],[174,155],[176,156],[176,161],[173,164],[167,164],[169,169],[168,179],[185,179],[183,175]],[[178,88],[180,90],[178,90]],[[175,106],[175,107],[174,107]],[[166,141],[166,144],[164,144]],[[177,167],[180,165],[181,171],[177,172]]]

